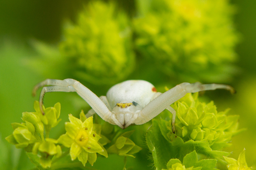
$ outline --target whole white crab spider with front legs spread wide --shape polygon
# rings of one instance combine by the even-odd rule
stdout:
[[[49,87],[43,87],[49,86]],[[173,114],[172,125],[175,132],[176,111],[170,105],[185,96],[214,89],[227,89],[234,93],[234,88],[225,84],[181,83],[164,93],[156,92],[155,87],[142,80],[129,80],[111,87],[106,96],[100,98],[90,89],[75,79],[46,79],[33,89],[33,95],[38,88],[43,87],[40,94],[40,109],[43,112],[43,96],[47,92],[77,92],[92,107],[86,117],[97,113],[104,121],[115,124],[122,129],[130,124],[144,124],[156,117],[164,109]]]

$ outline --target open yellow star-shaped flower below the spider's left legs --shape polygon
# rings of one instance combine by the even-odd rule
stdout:
[[[92,131],[93,117],[82,122],[69,114],[69,119],[70,122],[65,123],[66,134],[58,138],[58,143],[70,148],[72,161],[78,158],[85,166],[87,161],[93,165],[97,159],[96,153],[107,157],[106,150],[98,143],[101,137]]]

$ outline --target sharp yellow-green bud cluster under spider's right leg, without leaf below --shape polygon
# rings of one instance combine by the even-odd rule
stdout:
[[[176,135],[184,141],[207,140],[214,149],[230,146],[232,136],[243,131],[238,130],[239,116],[227,116],[229,109],[217,112],[213,101],[201,103],[198,93],[186,94],[173,104],[177,111]]]

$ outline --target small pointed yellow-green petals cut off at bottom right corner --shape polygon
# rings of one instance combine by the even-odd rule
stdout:
[[[250,170],[252,167],[248,167],[245,160],[245,149],[239,154],[238,160],[234,158],[224,157],[227,161],[228,170]]]

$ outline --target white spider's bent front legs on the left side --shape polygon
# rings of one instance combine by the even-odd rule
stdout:
[[[46,92],[77,92],[91,107],[92,109],[106,122],[113,122],[111,119],[112,113],[106,104],[101,101],[99,97],[96,96],[90,89],[83,86],[80,82],[75,79],[46,79],[45,81],[38,83],[34,89],[33,94],[36,93],[37,89],[43,86],[52,86],[43,88],[40,94],[40,109],[42,109],[43,96]],[[55,87],[54,87],[55,86]],[[43,113],[43,112],[42,112]]]

